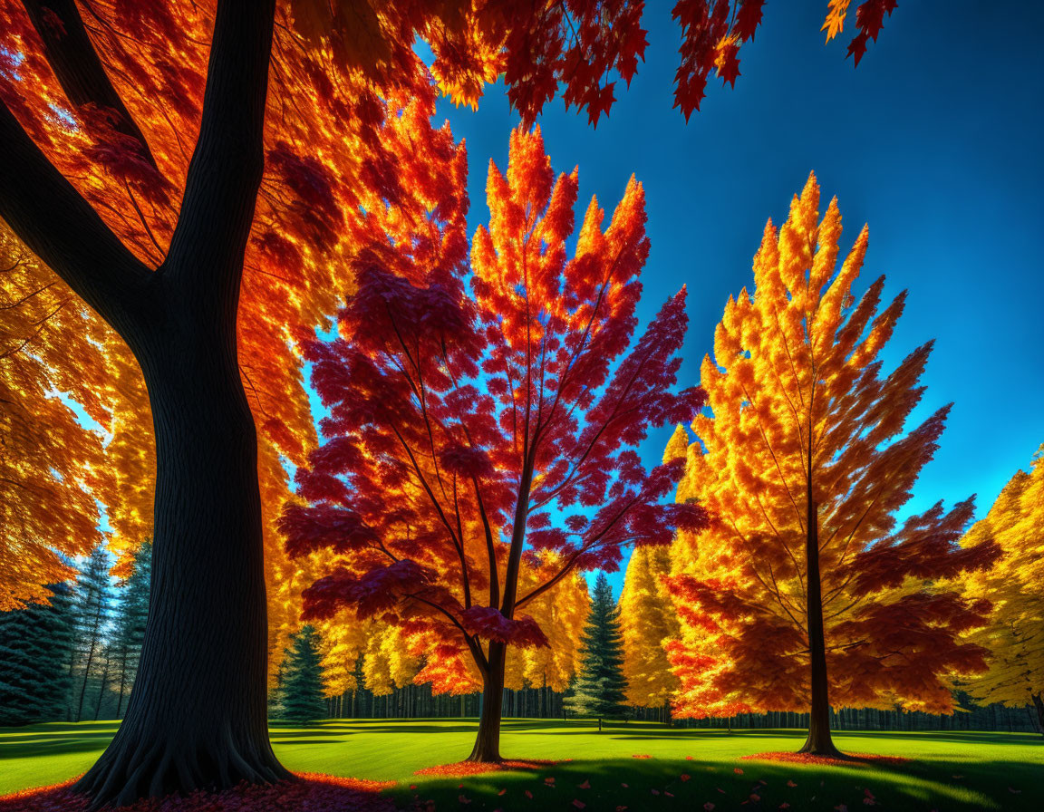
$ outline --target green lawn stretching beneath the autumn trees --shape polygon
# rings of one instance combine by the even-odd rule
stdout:
[[[82,772],[115,730],[114,722],[0,729],[0,794]],[[376,719],[312,727],[274,723],[271,736],[277,755],[292,770],[398,781],[387,791],[402,806],[416,795],[421,802],[434,799],[438,810],[574,811],[582,808],[573,805],[577,799],[589,812],[613,812],[618,806],[633,812],[698,812],[707,803],[718,811],[776,810],[787,803],[794,812],[831,812],[844,804],[854,812],[867,808],[865,790],[876,806],[887,810],[1017,812],[1044,804],[1044,738],[1028,734],[841,733],[835,739],[845,750],[912,761],[888,767],[817,767],[740,760],[797,749],[804,738],[801,731],[730,734],[632,722],[599,734],[586,721],[509,719],[501,744],[505,757],[561,763],[538,772],[465,779],[411,774],[459,761],[470,751],[474,732],[474,719]],[[689,780],[683,781],[683,773]],[[550,778],[553,786],[545,782]],[[590,788],[579,788],[585,782]],[[502,789],[506,792],[500,795]]]

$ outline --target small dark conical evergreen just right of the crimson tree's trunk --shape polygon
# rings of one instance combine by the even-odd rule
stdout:
[[[627,680],[623,677],[623,638],[613,590],[604,573],[598,573],[591,615],[584,629],[580,675],[566,708],[578,716],[614,717],[625,713]]]

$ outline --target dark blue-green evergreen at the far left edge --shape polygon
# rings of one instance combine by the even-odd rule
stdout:
[[[49,587],[50,604],[0,612],[0,726],[55,721],[72,687],[74,615],[68,584]]]

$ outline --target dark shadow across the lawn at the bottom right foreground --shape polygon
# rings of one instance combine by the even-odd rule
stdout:
[[[613,759],[562,762],[531,773],[417,777],[414,790],[406,791],[404,782],[394,794],[400,806],[421,802],[423,809],[430,798],[436,810],[459,809],[467,804],[469,812],[574,808],[613,812],[620,807],[643,812],[754,812],[777,810],[783,804],[794,812],[831,812],[846,807],[854,812],[867,806],[1029,812],[1044,801],[1037,781],[1038,765],[981,762],[971,767],[956,762],[824,768],[739,760]]]

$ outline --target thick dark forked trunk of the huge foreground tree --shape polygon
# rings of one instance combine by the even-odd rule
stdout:
[[[126,717],[77,782],[94,808],[291,778],[268,742],[257,441],[236,312],[264,165],[275,0],[219,0],[199,138],[151,271],[0,103],[0,217],[127,342],[157,441],[148,620]]]

